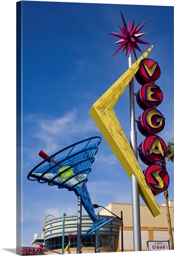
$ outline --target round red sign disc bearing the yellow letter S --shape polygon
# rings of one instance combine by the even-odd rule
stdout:
[[[169,187],[169,174],[162,165],[151,164],[143,173],[154,196],[159,195]]]

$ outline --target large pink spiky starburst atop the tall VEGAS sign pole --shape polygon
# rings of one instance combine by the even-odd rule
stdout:
[[[146,22],[149,19],[146,20],[139,28],[137,28],[138,27],[138,23],[134,27],[134,19],[132,21],[132,24],[130,23],[130,20],[129,20],[129,24],[128,24],[128,27],[127,27],[122,12],[121,12],[121,15],[122,15],[122,19],[123,19],[124,28],[121,27],[120,25],[118,25],[118,27],[121,29],[123,35],[115,33],[115,32],[110,32],[109,33],[109,34],[111,34],[113,36],[117,36],[117,37],[121,38],[121,40],[119,40],[116,43],[114,43],[114,44],[120,44],[120,45],[119,45],[118,50],[112,55],[112,57],[123,48],[123,51],[126,50],[126,56],[127,56],[128,52],[129,52],[130,56],[131,56],[131,52],[133,52],[134,55],[135,55],[135,58],[137,60],[137,56],[136,56],[135,50],[138,50],[138,51],[141,52],[140,48],[138,47],[138,44],[150,45],[149,43],[139,39],[140,36],[143,36],[146,33],[138,34],[140,32],[140,29],[146,24]]]

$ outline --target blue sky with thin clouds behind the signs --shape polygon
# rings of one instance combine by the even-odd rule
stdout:
[[[154,45],[148,57],[161,68],[155,84],[162,90],[163,101],[157,109],[166,120],[159,136],[166,143],[172,140],[173,7],[23,1],[23,246],[30,246],[34,233],[41,235],[48,214],[77,214],[74,192],[27,180],[28,172],[42,161],[38,156],[41,149],[51,155],[79,140],[101,136],[86,183],[91,201],[104,207],[110,202],[131,203],[131,180],[89,115],[92,104],[128,69],[125,52],[111,59],[118,39],[109,32],[120,33],[120,11],[127,24],[129,19],[135,18],[139,25],[149,19],[141,30],[147,34],[141,39]],[[142,53],[148,49],[142,44],[139,47]],[[139,88],[134,79],[134,91]],[[136,101],[135,107],[138,118],[143,111]],[[129,140],[129,86],[115,113]],[[145,137],[136,130],[139,145]],[[146,168],[140,160],[139,164],[142,170]],[[169,200],[173,200],[173,164],[167,162],[167,171]],[[156,200],[163,204],[163,193]],[[144,204],[141,197],[140,204]]]

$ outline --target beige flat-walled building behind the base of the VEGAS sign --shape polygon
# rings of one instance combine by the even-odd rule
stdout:
[[[173,202],[169,201],[169,211],[173,234]],[[133,225],[132,225],[132,204],[110,203],[105,208],[110,212],[120,216],[123,211],[123,244],[124,252],[133,251]],[[140,220],[141,220],[141,243],[142,251],[147,250],[147,241],[167,241],[169,239],[169,231],[166,217],[165,204],[160,205],[162,214],[153,217],[146,205],[140,204]],[[102,209],[99,214],[108,215],[105,209]],[[121,227],[120,227],[121,228]],[[174,235],[173,235],[174,237]],[[115,251],[121,252],[121,230],[119,236],[115,237]]]

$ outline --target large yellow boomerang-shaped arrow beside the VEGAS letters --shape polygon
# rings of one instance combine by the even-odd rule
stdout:
[[[161,214],[161,210],[113,110],[137,72],[140,61],[147,57],[152,48],[153,45],[92,105],[89,113],[130,179],[131,174],[136,177],[140,196],[155,217]]]

